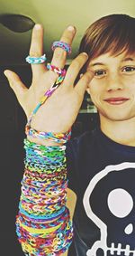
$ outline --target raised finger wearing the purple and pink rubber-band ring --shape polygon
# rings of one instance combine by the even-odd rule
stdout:
[[[70,25],[62,34],[60,41],[71,45],[75,34],[76,34],[76,28]],[[63,69],[66,63],[66,57],[67,57],[67,52],[62,48],[57,47],[54,50],[51,64],[54,66],[57,66],[60,69]]]

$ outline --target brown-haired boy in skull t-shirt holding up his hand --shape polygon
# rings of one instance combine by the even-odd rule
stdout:
[[[135,255],[134,31],[135,19],[125,14],[108,15],[92,24],[64,81],[31,120],[35,130],[65,134],[76,119],[85,90],[99,113],[100,127],[68,141],[66,147],[68,186],[77,198],[74,256]],[[60,42],[70,45],[75,33],[76,29],[69,26]],[[36,25],[31,56],[42,55],[42,34],[41,26]],[[63,69],[66,55],[57,47],[51,64]],[[42,63],[31,68],[29,90],[14,72],[4,71],[27,117],[58,79],[58,74]],[[74,85],[78,73],[80,80]],[[45,147],[59,145],[30,134],[28,139]]]

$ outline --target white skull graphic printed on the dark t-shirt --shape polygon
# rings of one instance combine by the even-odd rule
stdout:
[[[100,229],[87,256],[135,256],[135,163],[106,166],[84,194],[85,213]]]

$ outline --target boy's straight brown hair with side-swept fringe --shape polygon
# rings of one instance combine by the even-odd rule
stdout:
[[[79,52],[88,54],[88,61],[106,52],[117,55],[124,51],[135,52],[135,18],[127,14],[110,14],[95,21],[79,47]]]

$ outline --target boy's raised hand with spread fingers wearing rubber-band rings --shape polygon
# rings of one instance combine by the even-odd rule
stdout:
[[[76,34],[76,29],[72,26],[62,34],[60,41],[71,45]],[[43,54],[43,28],[36,24],[32,31],[30,56],[40,57]],[[61,48],[56,48],[51,61],[52,65],[63,69],[66,63],[67,52]],[[57,90],[53,92],[46,102],[31,120],[31,128],[39,131],[66,132],[73,125],[77,113],[82,104],[85,89],[92,80],[94,74],[86,71],[81,79],[74,85],[76,76],[87,61],[86,53],[79,54],[67,69],[64,81]],[[4,71],[11,88],[23,107],[27,116],[37,106],[40,98],[44,95],[52,84],[58,79],[58,74],[49,71],[44,63],[31,64],[32,82],[29,89],[23,84],[18,75],[13,71]]]

